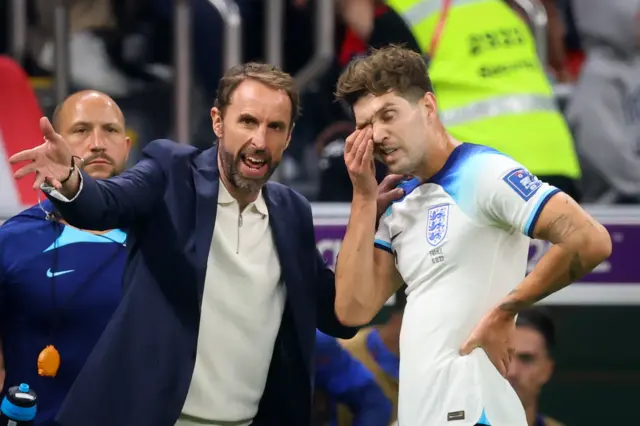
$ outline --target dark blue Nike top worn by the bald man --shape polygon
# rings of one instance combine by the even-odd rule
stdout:
[[[43,210],[54,210],[49,200],[0,227],[0,247],[8,248],[0,250],[5,382],[33,386],[38,426],[55,423],[71,384],[120,303],[127,258],[122,230],[94,235],[47,220]],[[52,341],[64,357],[55,380],[39,376],[33,358]]]

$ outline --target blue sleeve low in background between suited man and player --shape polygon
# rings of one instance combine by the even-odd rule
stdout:
[[[391,420],[393,407],[373,374],[320,331],[316,331],[316,389],[327,394],[332,419],[334,403],[341,403],[349,407],[353,426],[387,426]]]

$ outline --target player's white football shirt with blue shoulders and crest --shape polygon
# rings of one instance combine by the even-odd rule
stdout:
[[[459,350],[524,278],[529,239],[559,190],[481,145],[462,144],[426,183],[403,182],[377,248],[407,284],[400,335],[399,426],[526,426],[509,382],[482,349]]]

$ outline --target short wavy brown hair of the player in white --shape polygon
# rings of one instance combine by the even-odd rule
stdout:
[[[411,100],[433,92],[425,58],[401,46],[373,50],[368,56],[352,61],[342,72],[336,98],[353,106],[363,96],[389,92]]]

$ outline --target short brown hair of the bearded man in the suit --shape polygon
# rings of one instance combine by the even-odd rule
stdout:
[[[300,115],[300,93],[293,77],[275,65],[248,62],[231,67],[218,83],[218,92],[213,105],[224,114],[226,107],[231,103],[233,92],[240,83],[249,79],[272,89],[282,90],[287,94],[291,101],[291,128]]]

